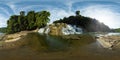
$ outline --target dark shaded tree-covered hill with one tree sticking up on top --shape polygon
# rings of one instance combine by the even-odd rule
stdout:
[[[80,11],[75,12],[76,16],[64,17],[63,19],[54,21],[54,23],[67,23],[77,25],[86,32],[107,32],[110,28],[104,23],[100,23],[96,19],[80,15]]]

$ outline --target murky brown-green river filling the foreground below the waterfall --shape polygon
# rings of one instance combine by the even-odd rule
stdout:
[[[119,49],[104,49],[96,40],[89,38],[67,40],[31,33],[24,40],[28,44],[0,50],[0,60],[120,60]]]

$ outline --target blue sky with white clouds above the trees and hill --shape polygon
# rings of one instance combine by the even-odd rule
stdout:
[[[0,0],[0,27],[7,26],[11,15],[31,10],[49,11],[49,23],[75,15],[75,11],[80,10],[83,16],[97,19],[110,28],[120,28],[119,0]]]

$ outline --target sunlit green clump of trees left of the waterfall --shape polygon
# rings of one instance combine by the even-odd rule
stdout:
[[[50,21],[49,16],[48,11],[29,11],[26,15],[24,11],[21,11],[20,15],[12,15],[7,21],[7,33],[44,27]]]

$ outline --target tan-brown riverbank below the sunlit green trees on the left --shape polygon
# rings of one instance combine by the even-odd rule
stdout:
[[[26,44],[24,37],[27,36],[29,33],[33,33],[33,32],[36,32],[36,30],[21,31],[14,34],[5,34],[4,36],[1,37],[0,50],[16,48]]]

